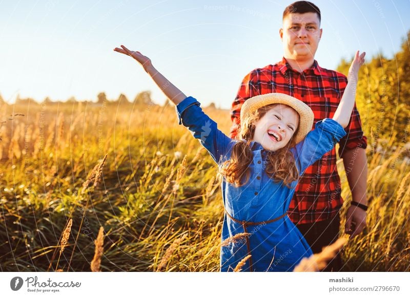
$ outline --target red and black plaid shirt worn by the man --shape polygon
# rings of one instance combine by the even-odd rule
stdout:
[[[268,93],[291,95],[312,108],[316,124],[324,118],[333,117],[346,84],[347,78],[343,74],[320,67],[316,60],[312,67],[302,73],[293,70],[285,58],[275,65],[256,68],[245,76],[232,103],[230,136],[236,138],[240,108],[248,98]],[[356,104],[345,131],[347,135],[339,142],[340,156],[343,149],[366,148],[367,139],[363,135]],[[340,193],[336,150],[333,148],[306,169],[291,201],[289,217],[296,224],[333,218],[343,204]]]

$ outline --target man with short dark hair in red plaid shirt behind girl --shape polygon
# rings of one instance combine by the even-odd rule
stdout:
[[[240,108],[250,97],[267,93],[284,93],[308,104],[315,115],[315,124],[332,118],[343,95],[347,78],[327,70],[314,59],[322,36],[320,10],[313,3],[298,1],[285,8],[283,28],[279,35],[284,55],[280,62],[256,68],[242,81],[232,103],[231,138],[236,138]],[[345,233],[354,237],[366,224],[366,137],[361,129],[356,105],[347,135],[340,141],[339,155],[352,191],[352,204],[347,209]],[[333,148],[314,165],[306,169],[299,181],[289,208],[289,216],[297,225],[314,253],[337,240],[340,227],[339,211],[343,204],[340,178]],[[338,271],[341,258],[337,255],[324,271]]]

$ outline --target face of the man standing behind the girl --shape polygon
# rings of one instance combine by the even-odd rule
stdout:
[[[279,30],[284,57],[295,60],[314,58],[322,36],[319,27],[319,17],[314,12],[288,14]]]

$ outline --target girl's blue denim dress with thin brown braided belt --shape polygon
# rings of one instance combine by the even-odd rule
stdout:
[[[220,166],[230,158],[237,140],[220,131],[199,105],[193,97],[180,102],[176,106],[179,124],[191,131]],[[345,134],[343,127],[332,119],[317,122],[315,129],[290,149],[299,174],[330,151]],[[267,151],[257,142],[252,142],[251,148],[253,161],[247,184],[235,187],[225,180],[221,183],[225,208],[221,242],[238,233],[247,232],[250,236],[221,247],[220,271],[233,271],[248,255],[251,257],[242,271],[293,271],[302,258],[312,255],[308,242],[286,215],[297,181],[288,188],[283,182],[271,179],[264,171]]]

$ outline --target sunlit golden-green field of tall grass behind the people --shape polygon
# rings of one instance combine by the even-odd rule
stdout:
[[[229,132],[227,110],[206,112]],[[216,165],[173,107],[3,105],[0,122],[1,271],[219,270]],[[344,271],[410,269],[404,143],[367,148],[367,228]]]

